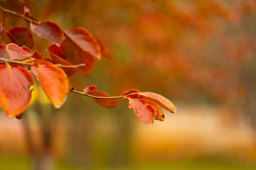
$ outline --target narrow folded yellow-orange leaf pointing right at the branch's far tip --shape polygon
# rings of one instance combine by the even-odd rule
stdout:
[[[160,105],[167,111],[170,111],[172,113],[174,113],[176,111],[176,107],[174,106],[174,104],[160,94],[151,93],[151,92],[142,92],[142,93],[138,93],[138,94],[147,97],[148,99],[152,100],[153,102],[156,102],[158,105]]]

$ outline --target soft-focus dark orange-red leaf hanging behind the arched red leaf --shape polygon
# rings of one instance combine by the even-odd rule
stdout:
[[[82,75],[89,75],[94,67],[95,57],[90,52],[83,51],[76,43],[66,37],[61,43],[61,49],[66,59],[73,65],[84,63],[85,66],[78,67],[77,71]]]

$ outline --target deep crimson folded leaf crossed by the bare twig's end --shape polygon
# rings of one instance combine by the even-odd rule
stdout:
[[[64,52],[61,50],[61,48],[59,46],[57,46],[56,44],[52,44],[50,45],[47,49],[47,52],[49,52],[50,56],[52,57],[53,61],[56,64],[62,64],[62,65],[68,65],[68,66],[72,66],[72,64],[70,64],[68,61],[65,60],[65,54]],[[73,76],[77,69],[76,68],[62,68],[65,73],[67,74],[67,76]]]

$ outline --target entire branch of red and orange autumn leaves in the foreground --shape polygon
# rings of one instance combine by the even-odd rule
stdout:
[[[37,50],[30,50],[34,44],[33,37],[25,28],[16,26],[6,32],[10,42],[0,44],[0,107],[7,116],[22,118],[22,112],[31,100],[33,90],[29,87],[35,81],[34,76],[55,108],[60,108],[67,95],[74,92],[93,98],[105,108],[118,106],[118,98],[126,99],[137,118],[148,125],[152,125],[154,120],[164,120],[161,107],[175,112],[174,104],[156,93],[141,93],[131,89],[120,96],[111,97],[98,91],[95,85],[86,87],[83,92],[75,91],[69,84],[70,76],[76,72],[90,74],[95,59],[112,59],[105,43],[85,28],[62,31],[55,23],[42,22],[33,17],[30,9],[21,0],[20,4],[23,7],[22,15],[1,9],[4,13],[9,12],[26,19],[34,34],[52,42],[46,49],[52,59],[43,58]],[[3,23],[0,26],[0,37],[5,34]]]

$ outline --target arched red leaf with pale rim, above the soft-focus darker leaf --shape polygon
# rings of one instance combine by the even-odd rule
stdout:
[[[65,30],[64,34],[83,51],[90,53],[97,59],[101,59],[100,46],[88,30],[78,27]]]

